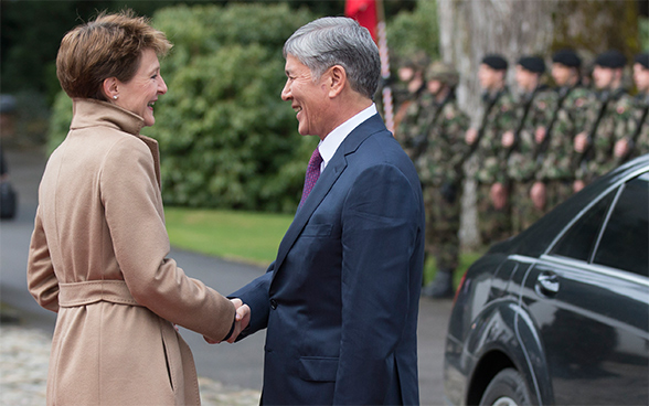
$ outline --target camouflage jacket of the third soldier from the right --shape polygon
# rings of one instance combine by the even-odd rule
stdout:
[[[565,94],[564,94],[565,93]],[[585,130],[588,113],[595,104],[595,94],[584,87],[562,87],[557,90],[556,119],[546,128],[545,146],[538,156],[540,169],[536,180],[572,181],[575,178],[574,162],[578,159],[574,150],[575,136]]]

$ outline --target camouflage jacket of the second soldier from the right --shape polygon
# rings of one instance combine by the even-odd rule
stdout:
[[[598,109],[602,103],[605,101],[599,100]],[[615,142],[632,132],[636,127],[634,111],[634,98],[618,89],[609,96],[598,124],[596,117],[589,117],[586,126],[588,135],[593,135],[589,139],[591,148],[586,152],[585,161],[577,169],[577,179],[589,180],[593,177],[600,177],[617,165],[613,156]],[[595,125],[597,128],[594,128]]]

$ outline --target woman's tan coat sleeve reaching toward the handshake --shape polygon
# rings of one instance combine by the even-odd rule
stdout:
[[[117,142],[99,175],[115,256],[132,297],[163,319],[213,340],[234,321],[234,306],[189,278],[173,259],[149,148],[132,137]]]

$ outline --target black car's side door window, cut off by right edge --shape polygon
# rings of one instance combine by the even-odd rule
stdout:
[[[606,229],[595,264],[649,277],[649,174],[627,182]]]

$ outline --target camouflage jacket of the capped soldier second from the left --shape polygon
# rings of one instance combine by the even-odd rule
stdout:
[[[441,104],[433,103],[427,111],[426,148],[415,162],[419,180],[424,185],[457,184],[464,178],[462,163],[469,151],[465,142],[469,117],[453,96]]]

